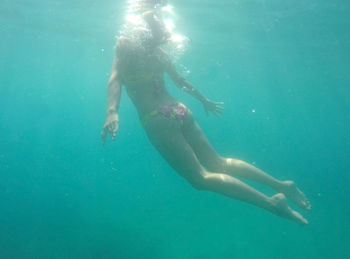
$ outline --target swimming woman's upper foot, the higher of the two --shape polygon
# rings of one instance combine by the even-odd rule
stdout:
[[[283,181],[278,192],[283,193],[286,197],[305,210],[311,209],[310,202],[306,199],[305,194],[299,190],[293,181]]]

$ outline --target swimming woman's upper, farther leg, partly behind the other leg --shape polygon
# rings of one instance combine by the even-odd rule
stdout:
[[[191,114],[186,117],[182,130],[200,163],[208,170],[267,185],[275,191],[285,194],[301,208],[310,209],[310,203],[293,181],[280,181],[247,162],[234,158],[223,158],[217,154]]]

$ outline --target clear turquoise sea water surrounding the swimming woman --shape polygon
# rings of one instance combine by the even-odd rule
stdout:
[[[170,92],[221,154],[295,180],[309,226],[192,189],[125,92],[102,147],[124,1],[2,0],[0,258],[350,258],[349,2],[172,4],[178,67],[225,113]]]

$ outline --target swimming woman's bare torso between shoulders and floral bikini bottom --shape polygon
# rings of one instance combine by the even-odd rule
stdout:
[[[159,48],[147,50],[131,40],[123,41],[117,44],[118,69],[139,115],[175,102],[165,89],[164,53]]]

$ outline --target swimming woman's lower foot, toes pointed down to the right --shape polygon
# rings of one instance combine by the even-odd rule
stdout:
[[[271,197],[273,209],[272,212],[280,217],[287,218],[289,220],[293,220],[301,225],[307,225],[308,221],[303,218],[303,216],[292,210],[287,203],[286,196],[283,193],[277,193]]]

